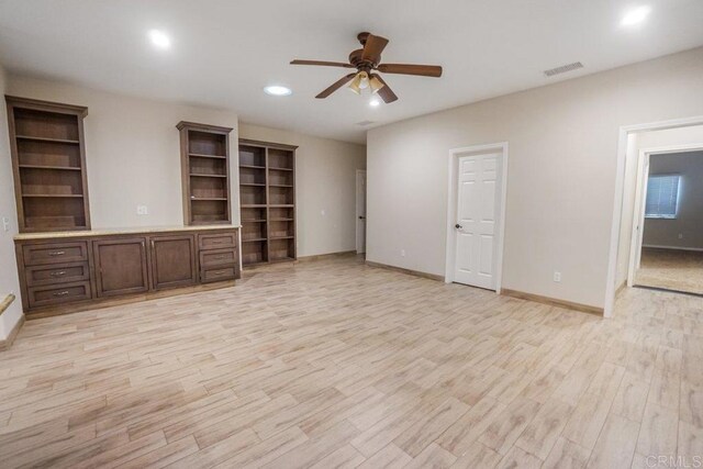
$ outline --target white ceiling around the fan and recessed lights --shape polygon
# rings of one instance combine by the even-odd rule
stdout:
[[[624,29],[629,8],[645,24]],[[0,63],[92,88],[228,108],[245,122],[365,142],[376,125],[538,87],[703,44],[702,0],[0,0]],[[157,51],[147,31],[171,36]],[[387,75],[400,100],[378,108],[339,90],[348,70],[291,66],[345,62],[356,34],[386,36],[387,63],[444,66],[444,77]],[[547,79],[542,71],[585,68]],[[293,96],[272,98],[266,85]]]

